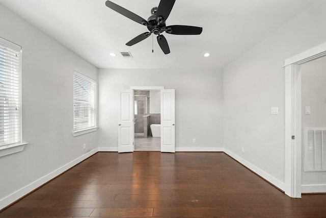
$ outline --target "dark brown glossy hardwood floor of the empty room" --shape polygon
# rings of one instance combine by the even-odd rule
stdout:
[[[97,153],[0,217],[326,217],[326,195],[291,199],[224,153]]]

